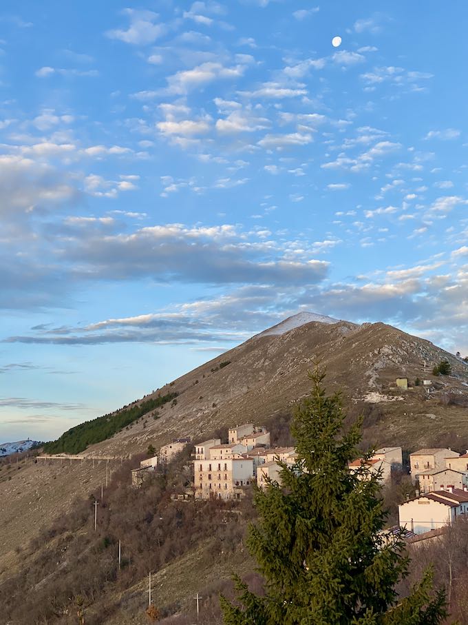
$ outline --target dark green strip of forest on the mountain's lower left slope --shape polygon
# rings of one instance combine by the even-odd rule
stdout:
[[[149,399],[140,404],[135,404],[130,408],[123,408],[113,415],[104,415],[91,421],[85,421],[70,430],[67,430],[57,440],[44,444],[46,453],[80,453],[88,445],[106,440],[124,427],[133,423],[147,412],[162,406],[163,404],[175,401],[177,393],[167,393],[158,395],[154,399]]]

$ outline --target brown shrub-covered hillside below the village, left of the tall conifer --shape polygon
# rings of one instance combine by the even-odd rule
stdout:
[[[162,571],[181,558],[192,562],[192,569],[197,568],[199,561],[206,573],[206,583],[228,580],[234,568],[231,556],[237,552],[237,566],[248,560],[242,540],[253,514],[251,500],[196,504],[172,501],[171,492],[184,488],[190,480],[187,469],[190,453],[191,449],[187,448],[164,470],[158,469],[142,489],[129,484],[129,470],[138,465],[139,458],[134,458],[133,465],[131,461],[125,462],[105,489],[103,500],[96,489],[19,549],[21,570],[0,584],[0,605],[6,622],[12,625],[76,623],[78,607],[83,606],[87,625],[102,625],[107,619],[112,624],[144,623],[147,582],[142,582],[141,588],[140,582],[147,580],[148,571],[160,571],[154,582],[155,603],[161,616],[169,616],[192,598],[187,595],[187,580],[178,593],[160,592],[160,585],[165,586]],[[95,500],[98,501],[96,532]],[[197,562],[191,553],[198,553]],[[218,558],[222,566],[215,566],[213,560]],[[182,577],[183,573],[180,573]],[[188,587],[202,594],[206,589],[204,577],[196,577],[193,570],[191,576]],[[32,592],[25,594],[24,588]],[[217,591],[213,592],[216,597]]]

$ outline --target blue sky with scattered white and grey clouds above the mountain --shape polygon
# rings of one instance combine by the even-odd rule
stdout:
[[[0,439],[300,310],[468,354],[467,25],[462,1],[3,0]]]

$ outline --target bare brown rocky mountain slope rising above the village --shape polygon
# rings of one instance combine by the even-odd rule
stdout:
[[[294,327],[293,319],[288,320],[292,329],[254,336],[150,394],[145,399],[169,390],[178,398],[158,411],[157,420],[144,418],[85,453],[136,453],[150,443],[200,438],[220,427],[290,413],[308,393],[307,370],[317,360],[327,369],[330,390],[341,390],[350,411],[362,409],[368,417],[365,425],[377,444],[409,448],[443,442],[450,431],[468,436],[462,407],[465,400],[468,404],[465,361],[383,323],[330,320]],[[432,369],[443,359],[452,374],[434,378]],[[394,388],[399,377],[409,378],[412,388]],[[421,385],[415,387],[416,378]],[[424,379],[431,380],[431,392]]]

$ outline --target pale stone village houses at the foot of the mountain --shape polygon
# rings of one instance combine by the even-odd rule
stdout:
[[[131,471],[132,484],[140,486],[158,463],[170,462],[190,443],[190,438],[175,439],[161,447],[159,456],[142,460],[140,467]],[[253,423],[229,429],[226,444],[211,438],[195,444],[193,451],[193,488],[190,494],[180,496],[198,500],[240,499],[253,482],[266,488],[270,480],[279,480],[279,462],[293,466],[297,459],[294,447],[271,447],[266,427]],[[398,506],[401,527],[412,535],[440,531],[457,515],[468,513],[468,450],[460,455],[451,449],[419,449],[409,456],[409,466],[416,497]],[[402,468],[401,447],[382,447],[372,458],[349,464],[359,479],[374,473],[382,483]]]

